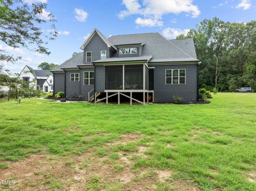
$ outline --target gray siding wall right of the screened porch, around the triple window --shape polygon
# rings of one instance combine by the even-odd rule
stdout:
[[[185,85],[165,85],[166,69],[186,69]],[[154,102],[173,102],[173,95],[183,98],[182,102],[196,102],[197,64],[157,65],[154,69]]]

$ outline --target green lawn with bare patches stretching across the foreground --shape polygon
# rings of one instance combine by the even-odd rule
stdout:
[[[0,103],[0,189],[256,190],[256,94],[210,101]]]

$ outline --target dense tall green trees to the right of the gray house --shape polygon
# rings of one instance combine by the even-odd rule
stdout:
[[[233,91],[242,86],[256,88],[256,21],[203,20],[196,29],[178,38],[193,38],[197,58],[202,61],[199,85]]]

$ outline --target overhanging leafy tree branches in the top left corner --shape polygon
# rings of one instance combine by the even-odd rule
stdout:
[[[12,48],[27,48],[49,55],[50,51],[45,47],[47,40],[53,40],[58,33],[54,24],[49,35],[39,27],[42,23],[55,21],[52,14],[46,19],[41,16],[45,9],[45,3],[28,5],[22,0],[0,0],[0,40]],[[21,57],[6,54],[4,49],[0,49],[0,61],[14,63],[18,59]]]

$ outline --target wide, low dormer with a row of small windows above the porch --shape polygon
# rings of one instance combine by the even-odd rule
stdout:
[[[145,43],[115,45],[117,47],[117,57],[141,56]]]

